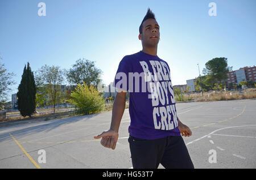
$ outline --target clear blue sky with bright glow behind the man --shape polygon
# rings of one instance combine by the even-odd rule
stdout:
[[[38,14],[40,2],[46,16]],[[170,66],[173,85],[196,78],[216,57],[228,58],[233,70],[256,65],[255,0],[1,0],[1,63],[16,82],[7,98],[18,91],[27,62],[32,71],[44,65],[68,70],[89,59],[110,84],[121,59],[142,50],[139,25],[148,7],[160,25],[158,57]]]

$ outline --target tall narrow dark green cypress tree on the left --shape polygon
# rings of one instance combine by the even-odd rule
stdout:
[[[18,87],[18,109],[23,117],[31,117],[36,107],[36,86],[34,74],[31,71],[30,63],[27,63],[23,70],[22,80]]]

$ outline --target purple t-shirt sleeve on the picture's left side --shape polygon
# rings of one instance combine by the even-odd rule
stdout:
[[[115,74],[114,82],[112,84],[113,87],[117,89],[118,92],[129,91],[129,72],[131,72],[131,58],[129,56],[125,56],[119,62],[119,66],[117,69],[117,73]]]

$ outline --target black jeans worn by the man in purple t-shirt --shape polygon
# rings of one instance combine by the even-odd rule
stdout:
[[[181,136],[146,140],[128,139],[134,169],[156,169],[159,164],[170,169],[193,169],[194,165]]]

